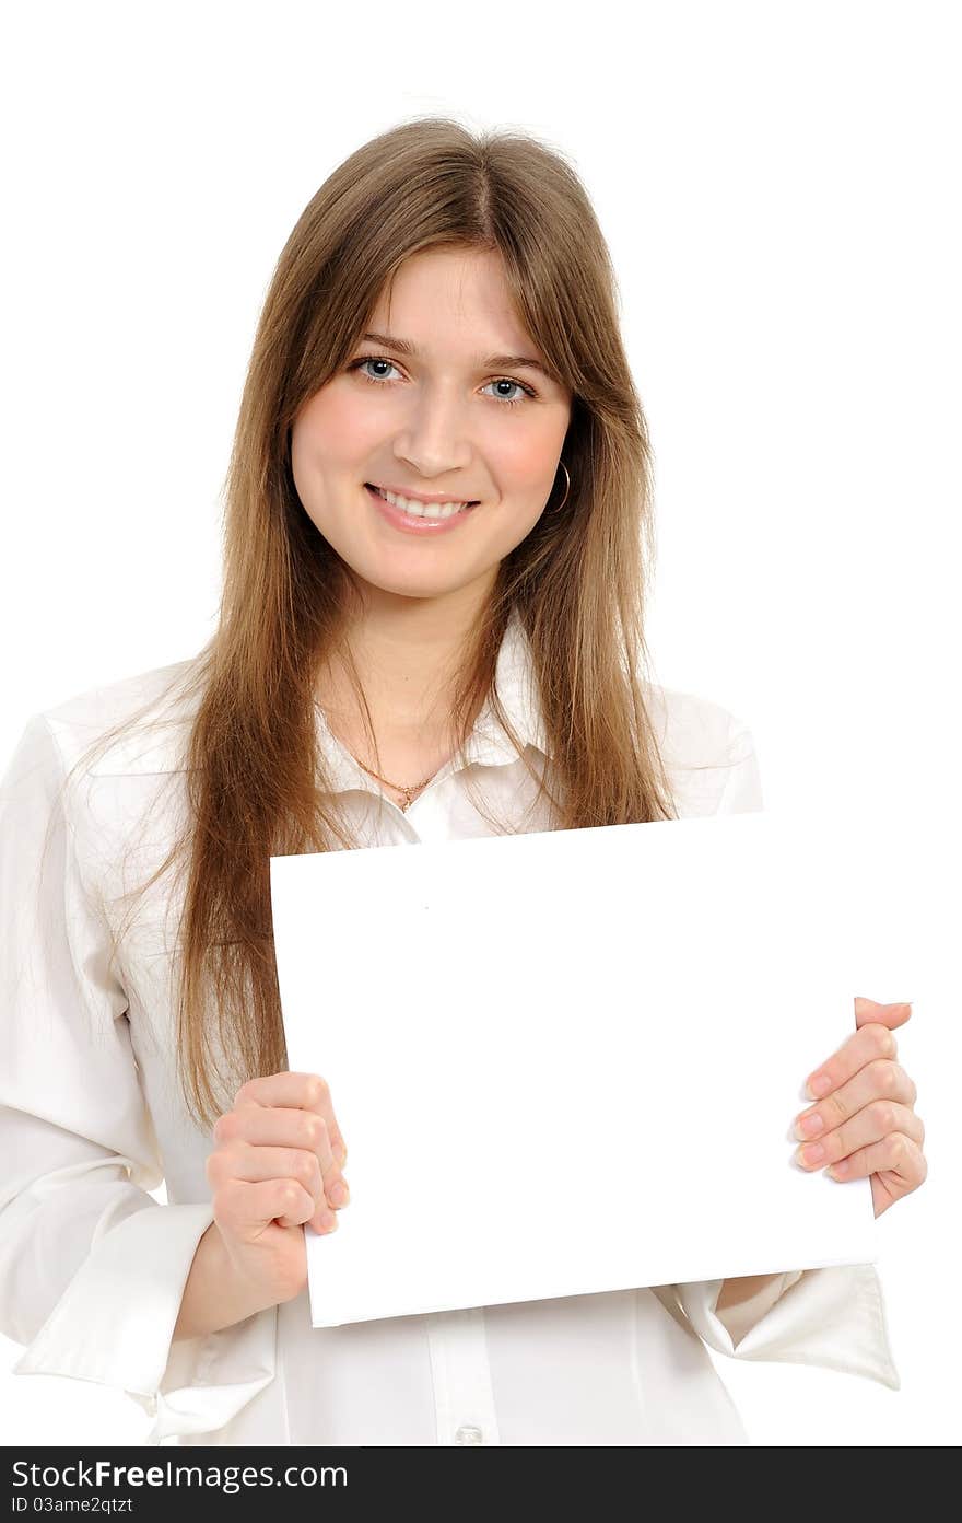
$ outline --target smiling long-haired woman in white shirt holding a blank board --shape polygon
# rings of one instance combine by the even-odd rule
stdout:
[[[761,807],[744,725],[642,676],[650,501],[572,169],[443,119],[355,152],[266,295],[213,640],[35,716],[8,769],[18,1372],[231,1445],[744,1444],[705,1343],[898,1386],[872,1266],[311,1327],[350,1139],[286,1071],[269,856]],[[878,1212],[922,1124],[907,1008],[855,1017],[805,1115]]]

